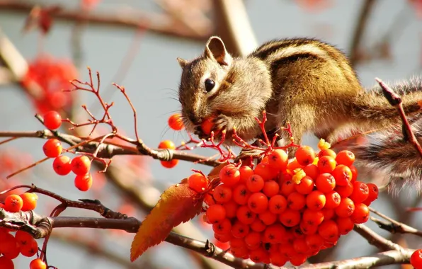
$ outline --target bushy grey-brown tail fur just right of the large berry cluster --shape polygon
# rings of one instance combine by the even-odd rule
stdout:
[[[411,123],[419,144],[422,144],[422,118]],[[382,178],[389,190],[398,191],[406,185],[422,190],[422,156],[414,146],[404,140],[401,125],[365,135],[364,142],[338,144],[355,154],[355,166]],[[343,147],[341,147],[343,146]]]

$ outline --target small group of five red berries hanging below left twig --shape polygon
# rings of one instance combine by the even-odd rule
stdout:
[[[56,130],[62,125],[62,117],[56,111],[49,111],[44,114],[44,125],[50,130]],[[81,191],[91,188],[92,176],[89,173],[91,159],[85,155],[78,155],[73,159],[62,155],[62,142],[58,139],[48,139],[42,146],[45,156],[54,158],[52,163],[54,171],[60,176],[66,176],[71,171],[76,175],[74,185]]]

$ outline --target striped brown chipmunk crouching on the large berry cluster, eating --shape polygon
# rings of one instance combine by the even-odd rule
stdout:
[[[307,132],[332,143],[352,131],[401,123],[379,86],[365,90],[346,55],[316,39],[273,40],[246,57],[232,57],[213,36],[203,55],[190,61],[178,58],[178,63],[183,69],[178,97],[186,130],[207,137],[200,124],[215,117],[213,130],[227,131],[227,145],[233,143],[229,138],[234,127],[246,141],[260,136],[255,118],[261,118],[263,110],[266,130],[278,130],[288,142],[282,127],[290,122],[296,144]],[[408,115],[422,113],[417,102],[422,100],[421,80],[392,88],[402,96]],[[290,150],[289,156],[294,153]]]

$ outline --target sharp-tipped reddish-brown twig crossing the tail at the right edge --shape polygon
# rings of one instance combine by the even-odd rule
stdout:
[[[409,140],[410,144],[414,146],[416,151],[418,151],[419,155],[422,157],[422,147],[416,139],[414,132],[411,130],[411,126],[409,121],[406,118],[406,114],[404,113],[403,103],[399,95],[394,93],[392,88],[390,88],[387,84],[385,84],[381,79],[375,78],[375,80],[380,84],[382,88],[382,93],[384,93],[385,98],[389,101],[390,105],[397,108],[399,111],[401,121],[403,122],[403,135],[405,140]]]

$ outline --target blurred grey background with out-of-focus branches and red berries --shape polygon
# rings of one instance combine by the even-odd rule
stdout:
[[[89,66],[101,74],[105,101],[115,102],[110,113],[120,132],[135,138],[132,110],[112,82],[125,86],[138,113],[139,135],[149,147],[157,147],[164,139],[181,144],[189,139],[186,132],[169,130],[167,125],[169,115],[180,109],[181,69],[176,57],[200,55],[210,35],[221,36],[234,55],[275,38],[319,38],[346,52],[363,85],[369,87],[375,84],[375,77],[400,81],[421,74],[422,1],[0,0],[0,132],[42,130],[33,115],[50,109],[60,110],[76,122],[88,118],[80,107],[83,104],[94,115],[102,115],[93,94],[61,92],[69,88],[70,79],[89,79]],[[107,128],[98,127],[97,131]],[[78,134],[88,132],[81,129]],[[304,144],[315,146],[316,141],[309,135]],[[69,199],[99,199],[112,210],[142,220],[160,193],[188,176],[191,168],[210,171],[208,166],[186,161],[169,169],[147,156],[115,156],[108,173],[95,173],[93,188],[86,193],[74,187],[72,176],[57,176],[51,161],[6,181],[9,173],[43,158],[44,142],[23,138],[1,144],[0,190],[35,183]],[[195,153],[214,154],[205,149]],[[39,196],[37,212],[50,214],[57,203]],[[420,213],[404,210],[419,206],[419,201],[413,190],[406,189],[399,196],[383,194],[372,207],[422,228]],[[62,215],[98,216],[86,210],[67,210]],[[178,232],[215,241],[211,227],[200,219],[181,225]],[[415,236],[391,235],[372,222],[368,226],[402,246],[421,247]],[[149,249],[131,264],[132,239],[133,234],[124,231],[55,229],[47,261],[60,269],[226,268],[168,243]],[[375,251],[351,232],[336,247],[321,251],[313,262]],[[16,268],[28,268],[30,260],[19,256]]]

